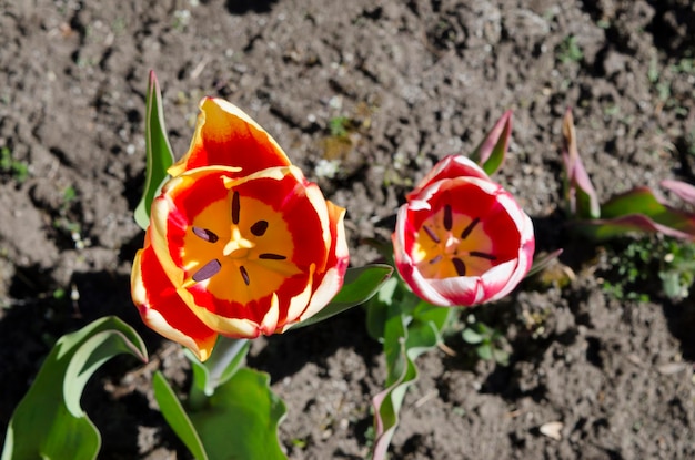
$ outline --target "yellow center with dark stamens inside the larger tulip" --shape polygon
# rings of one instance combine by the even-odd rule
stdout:
[[[182,251],[184,287],[204,283],[219,298],[249,300],[300,273],[291,262],[292,236],[282,214],[260,200],[232,190],[189,228]]]

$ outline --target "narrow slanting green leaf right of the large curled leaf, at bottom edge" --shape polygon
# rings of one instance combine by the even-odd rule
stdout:
[[[205,448],[198,436],[198,431],[195,431],[195,427],[188,413],[185,413],[171,386],[159,370],[154,372],[152,378],[152,388],[159,409],[173,432],[177,433],[197,460],[208,460],[208,453],[205,453]]]

